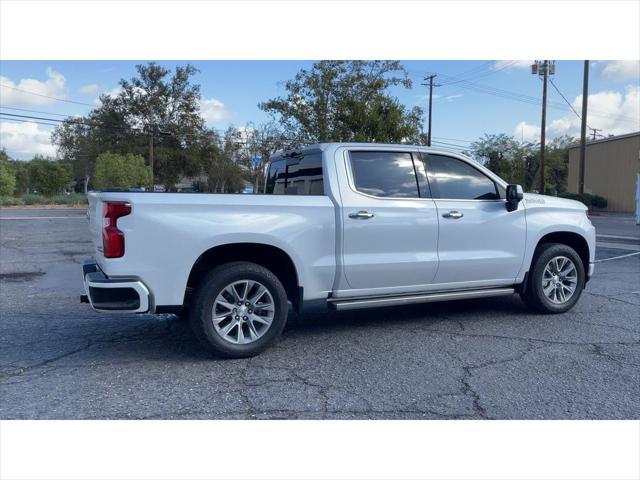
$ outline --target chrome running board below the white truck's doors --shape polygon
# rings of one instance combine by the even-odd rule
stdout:
[[[454,292],[420,293],[416,295],[396,295],[364,298],[330,298],[329,307],[334,310],[352,310],[366,307],[387,307],[392,305],[409,305],[412,303],[444,302],[447,300],[464,300],[468,298],[495,297],[511,295],[515,290],[509,288],[483,288],[480,290],[457,290]]]

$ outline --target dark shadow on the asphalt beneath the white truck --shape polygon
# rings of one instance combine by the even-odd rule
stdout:
[[[361,331],[368,328],[406,331],[411,328],[437,327],[439,324],[447,325],[451,322],[465,324],[491,320],[512,323],[529,315],[531,312],[515,296],[348,312],[308,308],[302,314],[290,311],[283,338],[277,342],[276,348],[270,348],[262,355],[298,355],[300,349],[317,348],[318,342],[325,345],[327,336],[338,333],[352,333],[356,337],[366,338]],[[100,333],[83,337],[92,345],[91,357],[94,360],[117,362],[122,357],[161,362],[222,360],[212,356],[199,344],[187,321],[173,315],[111,317],[104,329],[106,331],[100,330]],[[367,341],[376,340],[372,338]]]

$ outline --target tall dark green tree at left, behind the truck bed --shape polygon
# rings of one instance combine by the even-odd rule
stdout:
[[[202,169],[198,148],[204,120],[200,86],[191,65],[172,72],[156,63],[138,65],[137,75],[119,82],[117,95],[101,95],[86,117],[66,120],[53,133],[59,154],[73,160],[76,179],[94,170],[101,153],[142,155],[154,147],[154,179],[168,188],[182,175]]]

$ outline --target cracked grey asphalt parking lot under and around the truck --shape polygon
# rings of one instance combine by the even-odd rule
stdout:
[[[0,217],[3,419],[640,417],[640,256],[598,263],[562,315],[517,296],[310,312],[262,355],[219,360],[176,317],[79,303],[84,210]],[[633,253],[634,231],[597,258]]]

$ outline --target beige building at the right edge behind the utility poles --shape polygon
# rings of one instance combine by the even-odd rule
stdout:
[[[634,213],[640,173],[640,132],[587,143],[584,191],[608,200],[607,211]],[[569,149],[567,190],[578,192],[580,146]]]

